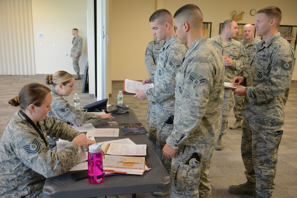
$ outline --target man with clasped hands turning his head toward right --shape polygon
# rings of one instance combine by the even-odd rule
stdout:
[[[247,55],[242,44],[232,38],[236,37],[238,32],[237,23],[234,20],[225,20],[222,25],[222,33],[217,36],[208,39],[214,44],[224,59],[225,74],[224,81],[232,82],[235,77],[235,71],[241,71],[247,64]],[[222,108],[222,127],[221,132],[215,146],[216,150],[222,150],[222,135],[226,134],[225,130],[228,126],[228,116],[230,110],[234,106],[234,94],[231,90],[225,90],[224,103]]]

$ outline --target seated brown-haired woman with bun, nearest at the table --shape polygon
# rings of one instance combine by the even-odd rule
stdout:
[[[52,96],[38,83],[25,85],[9,103],[20,106],[0,143],[0,197],[42,197],[45,178],[67,173],[80,161],[78,148],[96,143],[68,124],[47,117]],[[47,135],[71,141],[51,152]]]

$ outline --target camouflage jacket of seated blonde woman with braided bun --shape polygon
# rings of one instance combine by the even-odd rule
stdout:
[[[57,120],[62,120],[63,122],[70,122],[75,124],[86,124],[99,122],[101,115],[92,114],[80,110],[76,110],[75,107],[71,106],[60,94],[51,88],[51,94],[53,96],[53,101],[50,104],[52,110],[48,111],[47,116],[56,118]],[[50,147],[56,146],[57,138],[51,138],[48,136],[50,141]]]

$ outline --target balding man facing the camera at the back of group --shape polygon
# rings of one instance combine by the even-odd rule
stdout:
[[[259,43],[261,40],[255,39],[253,37],[255,33],[255,29],[252,24],[245,24],[242,28],[242,34],[244,39],[239,41],[243,47],[245,48],[245,51],[247,53],[247,64],[244,66],[244,68],[241,71],[236,71],[236,76],[246,76],[249,72],[250,63],[252,59],[254,58],[255,53],[257,52],[256,44]],[[241,121],[243,119],[242,114],[242,107],[243,107],[243,101],[244,96],[238,96],[234,95],[234,101],[235,105],[233,107],[233,112],[236,118],[236,122],[232,124],[229,128],[230,129],[237,129],[241,127]]]

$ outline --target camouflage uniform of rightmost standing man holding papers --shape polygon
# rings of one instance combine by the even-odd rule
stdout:
[[[295,61],[293,47],[278,32],[267,43],[257,44],[247,76],[241,156],[247,180],[256,182],[257,197],[271,197],[274,190]]]

